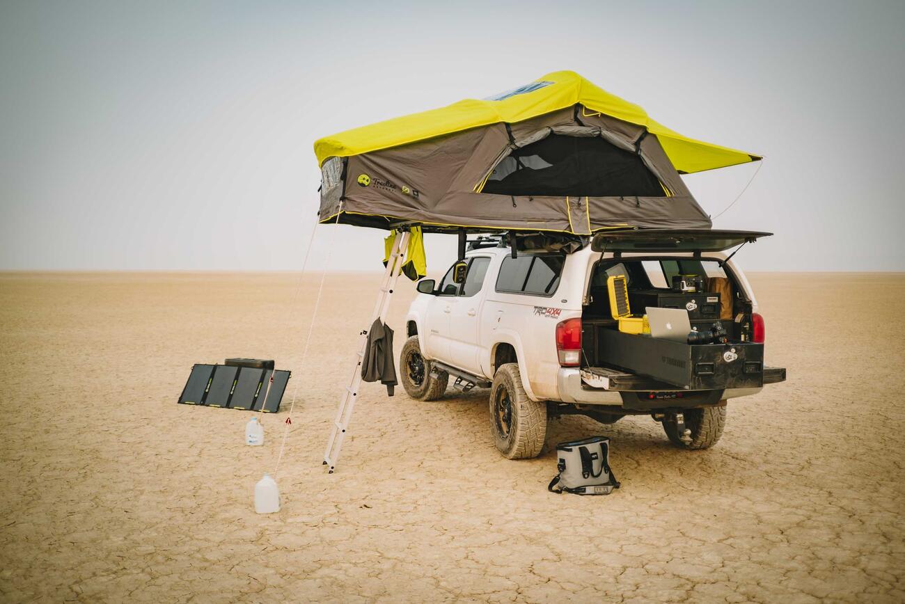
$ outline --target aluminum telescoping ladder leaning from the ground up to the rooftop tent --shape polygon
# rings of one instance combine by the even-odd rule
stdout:
[[[370,329],[377,319],[383,321],[384,316],[386,316],[386,311],[390,306],[390,299],[393,297],[396,279],[399,278],[400,273],[402,273],[402,267],[405,264],[405,252],[408,250],[410,237],[411,233],[409,231],[396,233],[393,250],[390,251],[389,258],[386,259],[386,272],[380,284],[380,292],[374,305],[374,313],[371,315],[371,320],[367,322],[367,329]],[[348,388],[343,391],[339,399],[336,420],[333,420],[330,438],[327,441],[327,449],[324,451],[324,465],[329,467],[330,474],[333,474],[333,470],[337,467],[342,442],[346,438],[348,422],[352,419],[352,411],[355,409],[358,386],[361,385],[361,363],[365,360],[365,351],[367,350],[367,329],[361,332],[361,344],[358,346],[355,370],[352,372]],[[393,351],[389,351],[389,354],[393,354]]]

